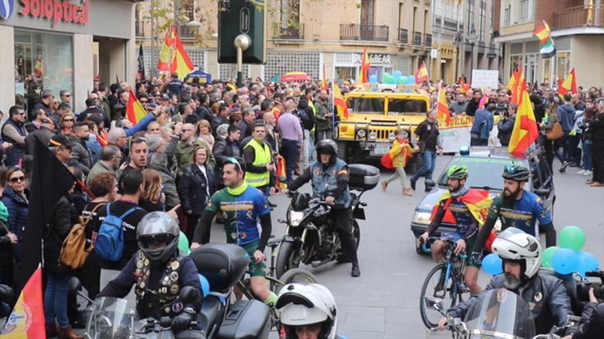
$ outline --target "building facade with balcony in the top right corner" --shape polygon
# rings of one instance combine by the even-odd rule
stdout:
[[[555,84],[575,68],[579,86],[601,86],[604,74],[604,6],[601,0],[497,0],[496,30],[504,48],[504,75],[522,63],[526,81]],[[546,21],[556,47],[553,58],[539,54],[534,30]]]

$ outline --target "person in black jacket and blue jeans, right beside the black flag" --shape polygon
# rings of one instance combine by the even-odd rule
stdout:
[[[78,211],[71,202],[70,194],[59,199],[52,212],[50,222],[44,235],[44,272],[47,283],[44,291],[44,318],[46,337],[82,339],[83,335],[76,334],[67,316],[67,295],[69,294],[69,279],[73,270],[60,260],[63,241],[69,235],[73,225],[80,223]]]

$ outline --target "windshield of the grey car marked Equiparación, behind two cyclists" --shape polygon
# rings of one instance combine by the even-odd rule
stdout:
[[[469,175],[465,183],[466,187],[503,190],[503,178],[501,177],[503,168],[513,165],[526,166],[526,160],[458,155],[441,173],[439,186],[447,186],[447,171],[453,165],[467,166]]]

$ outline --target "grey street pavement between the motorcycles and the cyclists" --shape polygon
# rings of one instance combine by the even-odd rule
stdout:
[[[434,177],[449,160],[446,155],[438,158]],[[583,184],[585,177],[575,174],[579,168],[567,168],[567,173],[561,174],[559,163],[554,166],[557,231],[566,225],[582,227],[588,239],[584,251],[604,263],[604,188]],[[382,179],[390,174],[383,172]],[[308,186],[303,189],[308,190]],[[398,181],[393,181],[387,192],[377,186],[363,195],[362,201],[368,205],[367,220],[360,221],[361,277],[350,277],[350,264],[305,267],[333,292],[338,304],[338,333],[349,339],[450,338],[448,333],[430,333],[419,316],[421,285],[434,266],[428,255],[415,252],[410,231],[413,210],[423,195],[423,179],[418,181],[414,197],[403,196]],[[284,227],[277,223],[277,218],[285,218],[289,201],[282,195],[270,199],[278,204],[272,221],[273,234],[280,237]],[[222,227],[213,227],[212,240],[222,239]],[[488,281],[487,273],[481,271],[481,286]],[[277,338],[277,334],[271,334],[270,338]]]

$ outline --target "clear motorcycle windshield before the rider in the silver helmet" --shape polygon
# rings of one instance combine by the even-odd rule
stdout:
[[[89,313],[86,333],[90,338],[118,339],[130,338],[137,327],[136,310],[128,307],[126,299],[101,297]]]

